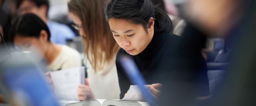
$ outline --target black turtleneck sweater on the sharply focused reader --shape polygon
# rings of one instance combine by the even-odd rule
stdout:
[[[132,85],[118,62],[122,55],[130,56],[134,60],[147,84],[185,81],[196,85],[191,87],[200,89],[198,96],[208,95],[206,62],[200,51],[184,53],[180,50],[181,46],[178,45],[182,44],[182,40],[184,39],[177,35],[155,31],[151,42],[138,55],[132,56],[120,48],[116,56],[116,68],[121,91],[120,99],[124,97]],[[192,54],[194,58],[190,58],[186,54]],[[191,60],[195,60],[195,63],[191,63]]]

